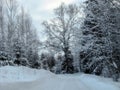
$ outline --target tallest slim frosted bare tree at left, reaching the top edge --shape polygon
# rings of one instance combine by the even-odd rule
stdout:
[[[18,4],[16,0],[6,0],[6,16],[7,16],[7,45],[8,51],[12,55],[13,40],[17,29]]]

